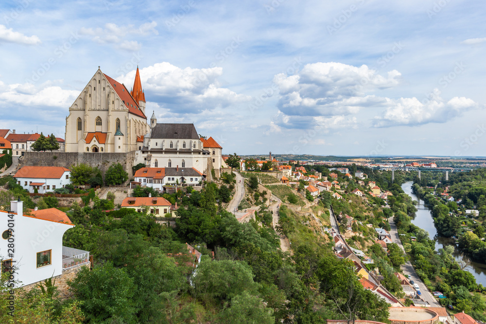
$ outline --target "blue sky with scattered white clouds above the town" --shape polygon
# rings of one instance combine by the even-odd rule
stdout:
[[[63,137],[98,67],[223,153],[485,156],[483,0],[2,0],[0,128]]]

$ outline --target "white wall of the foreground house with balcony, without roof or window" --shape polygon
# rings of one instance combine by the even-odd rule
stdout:
[[[13,259],[16,267],[15,279],[21,283],[16,287],[29,285],[62,273],[62,238],[74,225],[50,222],[22,215],[22,202],[10,203],[12,212],[0,212],[0,232],[13,223],[13,242],[0,236],[0,255],[2,260]],[[9,215],[12,215],[9,217]],[[12,221],[13,222],[9,222]],[[12,225],[11,225],[12,226]],[[1,235],[0,233],[0,235]],[[13,256],[9,256],[8,244],[14,244]],[[11,245],[12,246],[12,245]],[[51,264],[37,268],[37,253],[51,250]]]

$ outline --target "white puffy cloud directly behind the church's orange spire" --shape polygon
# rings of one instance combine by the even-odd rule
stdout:
[[[205,109],[225,108],[247,102],[250,96],[221,87],[217,78],[222,68],[178,68],[170,63],[156,63],[140,69],[146,97],[177,113],[194,113]],[[135,71],[117,78],[125,85],[133,83]]]

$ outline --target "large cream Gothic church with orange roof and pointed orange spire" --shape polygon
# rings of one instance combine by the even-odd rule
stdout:
[[[147,134],[145,94],[139,68],[131,91],[98,67],[83,92],[69,107],[66,152],[126,153]]]

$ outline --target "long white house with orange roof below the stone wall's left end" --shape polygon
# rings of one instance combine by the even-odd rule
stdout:
[[[14,175],[17,184],[31,193],[52,192],[71,183],[71,171],[63,167],[22,167]]]

